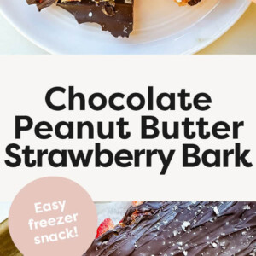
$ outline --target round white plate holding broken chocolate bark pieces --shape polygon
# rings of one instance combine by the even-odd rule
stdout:
[[[191,54],[226,32],[250,3],[203,0],[195,7],[178,7],[172,0],[135,2],[135,30],[129,39],[113,38],[96,25],[78,25],[55,6],[38,13],[26,0],[0,0],[0,10],[26,38],[50,53]]]

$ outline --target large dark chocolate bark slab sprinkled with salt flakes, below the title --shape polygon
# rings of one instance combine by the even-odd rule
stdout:
[[[256,202],[147,202],[84,256],[254,256]]]

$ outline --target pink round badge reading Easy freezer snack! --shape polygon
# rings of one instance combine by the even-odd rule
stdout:
[[[81,256],[96,236],[96,207],[77,183],[44,177],[26,185],[9,212],[9,231],[26,256]]]

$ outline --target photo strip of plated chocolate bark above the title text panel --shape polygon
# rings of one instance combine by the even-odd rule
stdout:
[[[0,0],[0,54],[256,54],[250,0]]]

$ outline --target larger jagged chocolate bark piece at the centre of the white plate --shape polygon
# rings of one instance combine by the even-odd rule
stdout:
[[[80,23],[94,22],[103,31],[111,32],[114,37],[128,38],[133,30],[133,0],[92,1],[57,3],[66,9]]]

